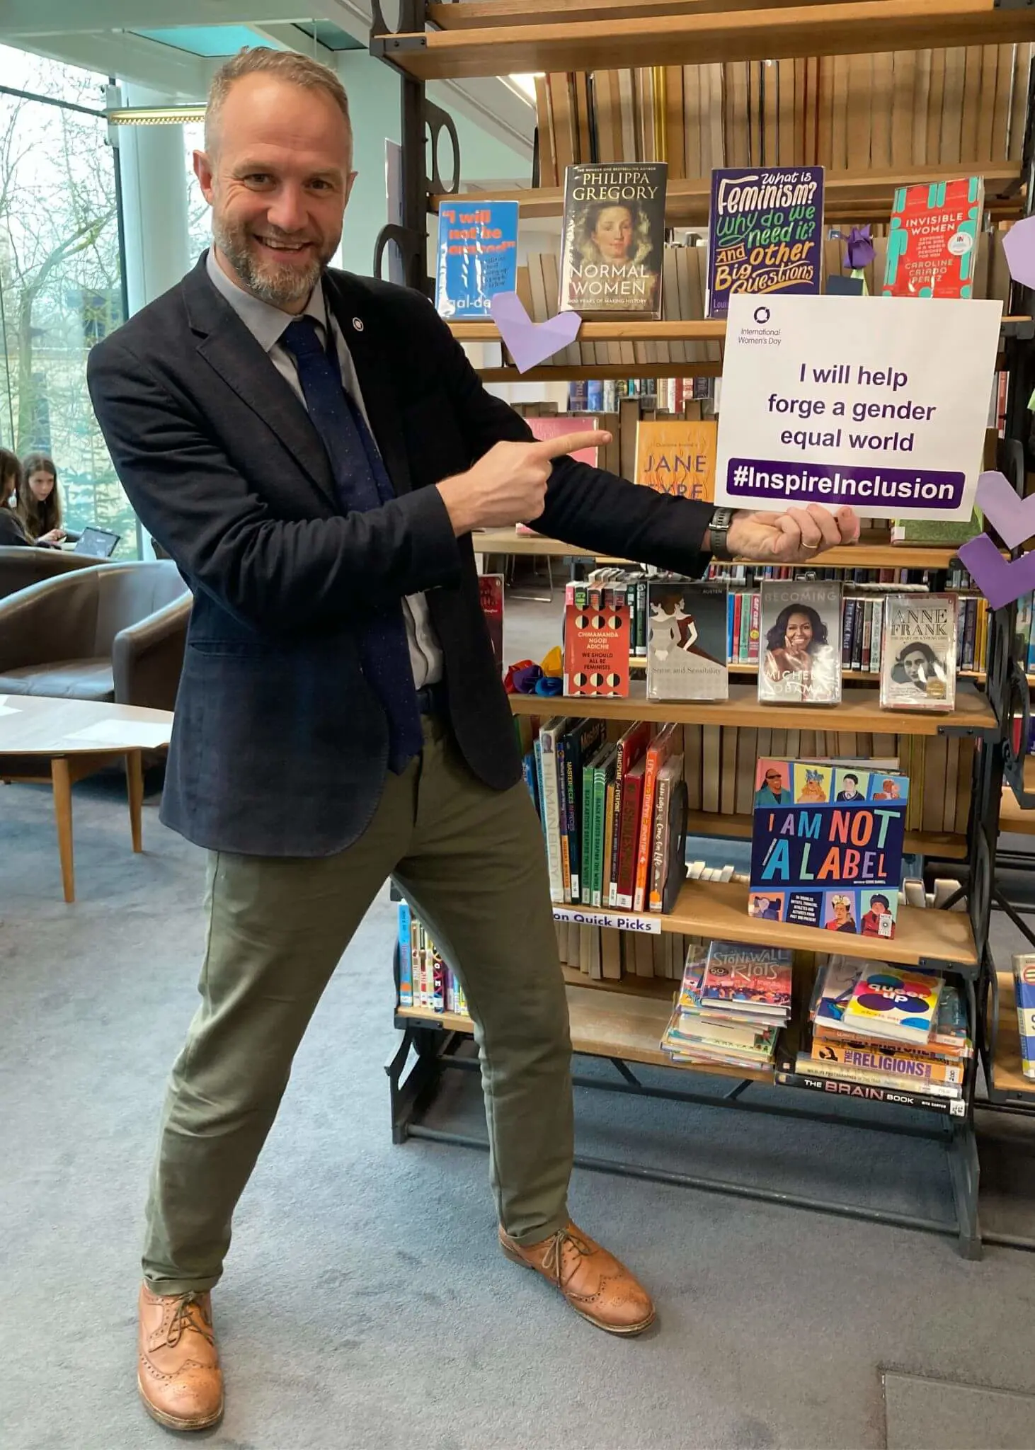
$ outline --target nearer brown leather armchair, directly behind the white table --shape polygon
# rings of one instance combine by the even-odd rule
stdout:
[[[0,602],[0,695],[171,710],[190,603],[175,564],[158,561],[94,564],[23,589]]]

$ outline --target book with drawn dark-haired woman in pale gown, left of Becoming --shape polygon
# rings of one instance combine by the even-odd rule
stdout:
[[[647,697],[728,699],[726,586],[652,580],[647,605]]]

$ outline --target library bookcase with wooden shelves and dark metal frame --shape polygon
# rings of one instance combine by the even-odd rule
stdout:
[[[383,229],[374,254],[374,271],[388,242],[402,254],[409,286],[431,294],[428,277],[428,215],[438,200],[460,197],[460,146],[451,117],[428,100],[426,81],[513,72],[591,71],[651,65],[699,65],[712,61],[751,61],[789,57],[873,54],[918,46],[1009,45],[1035,39],[1035,7],[996,4],[993,0],[826,0],[794,4],[776,0],[762,6],[757,0],[454,0],[435,4],[425,0],[399,0],[397,26],[386,23],[378,0],[373,4],[370,51],[391,65],[400,78],[402,94],[402,222]],[[886,218],[894,184],[939,180],[961,173],[980,173],[986,183],[986,206],[997,219],[1016,219],[1031,210],[1035,154],[1032,148],[1032,83],[1026,87],[1023,112],[1023,157],[1019,162],[968,162],[951,167],[890,171],[826,173],[825,216],[829,220],[880,220]],[[452,181],[439,174],[439,141],[448,135],[452,145]],[[431,173],[431,174],[428,174]],[[667,202],[667,225],[703,223],[709,181],[674,181]],[[496,194],[496,193],[494,193]],[[516,194],[523,218],[535,219],[560,213],[558,188],[523,188]],[[475,197],[471,196],[470,200]],[[922,303],[918,303],[922,306]],[[1003,326],[1000,367],[1010,376],[1006,436],[1026,436],[1025,405],[1035,384],[1035,362],[1029,358],[1032,328],[1031,296],[1015,287]],[[584,323],[580,341],[699,341],[722,347],[725,328],[709,320],[681,322],[607,322]],[[454,325],[454,335],[467,342],[497,342],[491,322]],[[644,349],[645,351],[645,349]],[[702,348],[702,351],[704,351]],[[715,347],[712,348],[715,354]],[[573,367],[546,364],[522,374],[522,380],[606,377],[678,377],[715,376],[722,362],[715,355],[702,362],[628,362]],[[500,352],[500,361],[481,367],[486,381],[515,380],[515,368]],[[1015,445],[1016,448],[1016,445]],[[1023,457],[1015,474],[1023,492]],[[484,552],[529,552],[578,557],[567,542],[516,536],[510,531],[490,531],[475,541]],[[584,557],[584,555],[583,555]],[[949,550],[891,548],[873,539],[852,550],[831,551],[826,566],[907,567],[945,570]],[[873,686],[848,680],[842,705],[832,712],[809,706],[762,706],[755,689],[731,683],[729,700],[657,703],[636,692],[628,699],[577,699],[512,696],[516,716],[568,712],[600,715],[618,729],[631,719],[676,721],[684,725],[725,725],[741,728],[825,728],[836,719],[836,729],[847,732],[887,732],[897,735],[968,737],[973,740],[973,776],[970,815],[965,834],[910,832],[907,850],[929,858],[952,861],[963,882],[957,898],[945,909],[902,906],[896,937],[881,944],[881,954],[906,966],[935,969],[954,976],[968,1005],[976,1051],[967,1072],[964,1098],[949,1112],[916,1112],[886,1105],[878,1116],[851,1115],[845,1099],[829,1095],[810,1096],[797,1088],[777,1085],[773,1070],[744,1072],[702,1066],[674,1066],[660,1050],[676,983],[670,979],[623,977],[591,982],[583,973],[565,969],[573,1045],[577,1056],[604,1058],[615,1076],[574,1074],[577,1085],[616,1093],[636,1093],[648,1099],[707,1103],[729,1111],[771,1114],[790,1119],[828,1122],[862,1132],[891,1132],[935,1138],[945,1146],[955,1215],[952,1221],[922,1218],[878,1208],[831,1202],[809,1192],[787,1193],[765,1186],[722,1182],[676,1167],[664,1172],[628,1160],[577,1157],[594,1169],[633,1177],[657,1179],[690,1186],[778,1202],[849,1218],[922,1230],[955,1237],[960,1251],[978,1257],[981,1234],[977,1214],[978,1157],[974,1134],[978,1058],[990,1073],[994,1061],[1002,1067],[996,1086],[978,1106],[993,1099],[1021,1101],[1023,1079],[1016,1054],[1010,1057],[1007,986],[996,974],[989,951],[989,919],[994,892],[996,840],[1005,770],[1018,793],[1021,806],[1035,806],[1035,793],[1023,796],[1021,763],[1009,745],[1010,724],[1029,721],[1028,680],[1012,660],[1012,608],[990,613],[987,679],[961,680],[957,708],[951,715],[896,713],[878,709]],[[984,689],[981,689],[984,684]],[[778,722],[778,724],[777,724]],[[744,838],[749,832],[747,816],[691,812],[689,834],[715,834]],[[674,909],[652,918],[662,932],[689,937],[726,938],[742,942],[771,942],[765,924],[747,911],[747,889],[736,884],[686,882]],[[963,909],[949,909],[963,905]],[[568,908],[571,911],[573,908]],[[596,915],[596,914],[593,914]],[[622,914],[629,916],[631,914]],[[1035,942],[1035,938],[1032,938]],[[794,951],[794,1024],[807,1008],[807,989],[815,970],[815,956],[829,950],[829,934],[805,927],[781,928],[778,942]],[[841,937],[838,950],[868,956],[867,938]],[[396,963],[399,972],[399,961]],[[397,977],[399,979],[399,977]],[[397,1005],[396,1027],[402,1040],[386,1066],[390,1080],[391,1131],[396,1143],[407,1137],[486,1147],[480,1138],[433,1128],[423,1121],[444,1072],[477,1072],[471,1053],[471,1022],[458,1014],[441,1014]],[[992,1044],[992,1051],[989,1050]],[[636,1076],[635,1067],[664,1069],[649,1082]],[[723,1082],[725,1079],[725,1082]],[[664,1086],[658,1086],[658,1082]],[[732,1080],[732,1082],[731,1082]],[[992,1080],[992,1079],[990,1079]],[[1035,1108],[1035,1092],[1028,1092]],[[816,1106],[810,1106],[810,1105]],[[867,1103],[867,1108],[876,1108]],[[819,1111],[818,1111],[819,1109]]]

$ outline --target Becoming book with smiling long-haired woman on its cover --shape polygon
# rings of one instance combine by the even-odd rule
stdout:
[[[841,584],[762,580],[758,699],[841,703]]]

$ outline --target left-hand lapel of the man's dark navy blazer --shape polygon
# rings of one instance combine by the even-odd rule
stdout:
[[[204,257],[184,278],[190,325],[201,336],[200,357],[242,403],[280,438],[335,513],[339,510],[331,461],[320,435],[291,386],[280,376],[241,318],[209,281]],[[365,396],[365,394],[364,394]]]

